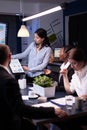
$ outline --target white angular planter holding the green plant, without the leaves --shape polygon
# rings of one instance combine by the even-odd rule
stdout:
[[[55,88],[56,83],[54,83],[53,87],[41,87],[37,84],[33,84],[34,92],[40,96],[44,97],[54,97],[55,96]]]

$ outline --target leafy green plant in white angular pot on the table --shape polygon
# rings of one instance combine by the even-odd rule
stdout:
[[[48,76],[38,76],[34,78],[33,86],[36,94],[45,97],[54,97],[57,83]]]

